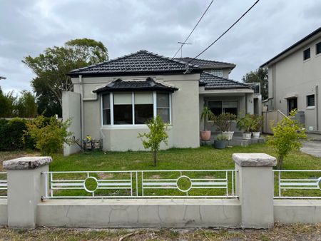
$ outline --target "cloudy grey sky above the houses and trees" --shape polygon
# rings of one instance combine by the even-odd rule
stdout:
[[[215,0],[183,47],[195,57],[255,0]],[[21,62],[68,40],[101,41],[109,58],[146,49],[172,57],[210,0],[0,0],[0,86],[32,90],[34,73]],[[280,51],[321,26],[321,1],[260,0],[231,31],[199,58],[235,63],[241,81]],[[180,53],[178,54],[178,57]]]

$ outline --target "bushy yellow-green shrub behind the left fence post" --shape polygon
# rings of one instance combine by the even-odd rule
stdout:
[[[62,150],[63,143],[71,143],[72,133],[68,131],[70,125],[71,120],[63,122],[55,117],[48,119],[38,116],[26,123],[24,140],[26,136],[34,140],[36,149],[40,150],[43,155],[58,153]]]

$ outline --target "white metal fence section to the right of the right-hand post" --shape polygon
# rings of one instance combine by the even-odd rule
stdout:
[[[321,199],[321,170],[274,170],[277,199]]]

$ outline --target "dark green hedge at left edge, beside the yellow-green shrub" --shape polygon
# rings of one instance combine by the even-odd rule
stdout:
[[[34,141],[26,135],[26,123],[29,120],[14,118],[12,120],[0,119],[0,150],[21,150],[34,148]]]

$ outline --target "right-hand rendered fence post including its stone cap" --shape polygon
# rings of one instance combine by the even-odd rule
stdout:
[[[237,194],[240,197],[242,227],[268,228],[274,223],[274,177],[276,159],[264,153],[233,154],[238,170]]]

